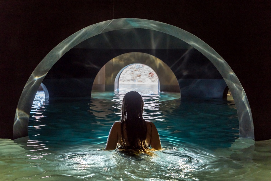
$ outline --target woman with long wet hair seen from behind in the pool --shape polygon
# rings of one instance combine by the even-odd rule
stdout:
[[[120,149],[149,153],[149,147],[161,149],[158,131],[152,122],[143,119],[143,99],[136,91],[128,92],[122,101],[121,121],[109,132],[105,150]]]

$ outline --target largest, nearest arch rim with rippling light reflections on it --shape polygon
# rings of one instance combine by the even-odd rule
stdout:
[[[253,119],[245,91],[227,62],[214,49],[198,37],[178,27],[152,20],[129,18],[108,20],[83,28],[66,38],[45,56],[29,77],[19,99],[14,119],[13,138],[27,136],[29,112],[35,93],[48,71],[61,56],[75,45],[78,45],[90,37],[113,30],[129,28],[150,29],[175,36],[206,56],[218,69],[231,90],[237,108],[240,137],[254,139]]]

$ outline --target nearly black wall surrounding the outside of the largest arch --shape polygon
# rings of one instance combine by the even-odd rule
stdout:
[[[38,63],[80,29],[117,18],[182,28],[216,50],[250,103],[255,140],[271,139],[270,1],[0,1],[0,138],[12,138],[17,103]]]

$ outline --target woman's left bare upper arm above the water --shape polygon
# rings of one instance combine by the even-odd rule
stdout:
[[[116,149],[117,144],[118,144],[118,134],[120,134],[119,130],[120,130],[120,122],[115,122],[112,125],[111,130],[109,132],[105,150]]]

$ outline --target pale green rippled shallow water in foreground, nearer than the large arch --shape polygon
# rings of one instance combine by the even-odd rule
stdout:
[[[269,180],[271,142],[244,149],[164,146],[140,158],[92,145],[31,151],[24,139],[0,140],[3,180]],[[6,149],[5,149],[6,148]],[[12,152],[8,151],[12,150]]]

